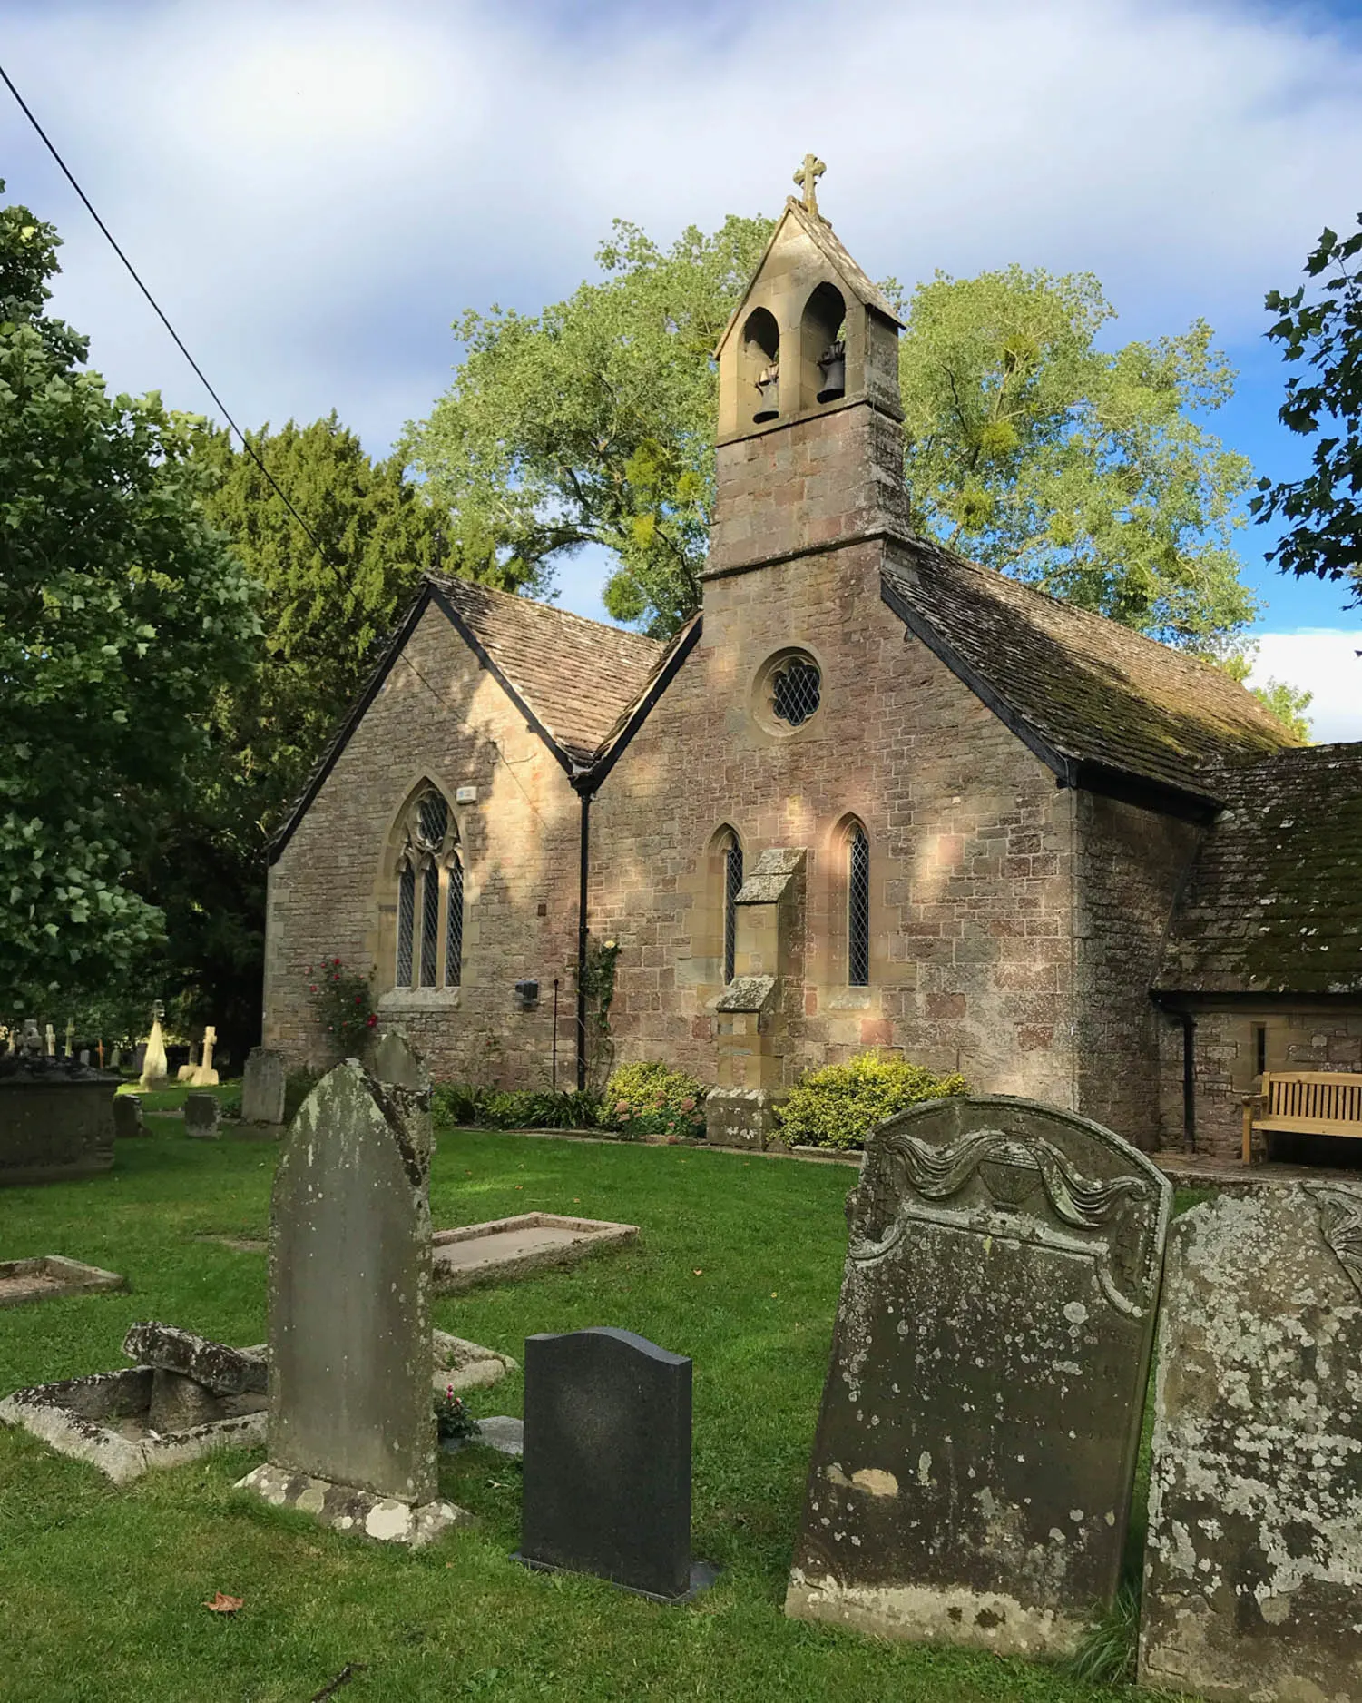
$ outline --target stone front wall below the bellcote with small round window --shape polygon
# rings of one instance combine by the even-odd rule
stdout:
[[[809,651],[819,712],[763,725],[773,652]],[[848,986],[844,840],[872,855],[870,986]],[[1074,1105],[1073,794],[880,598],[860,543],[705,586],[701,640],[591,811],[591,928],[621,954],[618,1059],[715,1080],[722,858],[805,848],[804,976],[785,1025],[788,1085],[809,1066],[892,1047],[979,1090]],[[787,1005],[788,1013],[788,1005]]]

